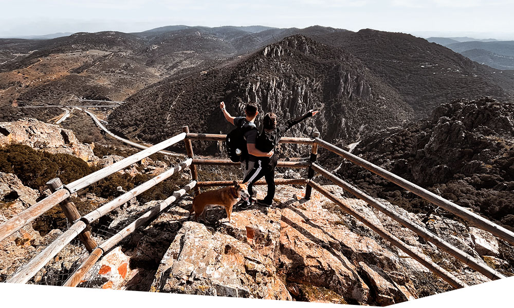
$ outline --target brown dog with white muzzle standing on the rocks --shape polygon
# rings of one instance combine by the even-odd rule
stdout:
[[[216,190],[204,191],[200,195],[193,199],[193,206],[189,211],[189,215],[195,213],[194,220],[198,221],[200,217],[206,222],[205,213],[207,212],[208,205],[222,205],[227,211],[228,221],[232,222],[232,206],[237,203],[237,200],[243,198],[248,200],[250,195],[248,194],[248,184],[237,184],[234,181],[234,186],[227,186],[225,188],[219,188]]]

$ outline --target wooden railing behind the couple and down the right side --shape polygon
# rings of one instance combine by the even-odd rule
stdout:
[[[185,129],[185,131],[186,131],[186,129]],[[188,134],[186,136],[187,140],[190,139],[190,140],[224,141],[226,138],[226,135],[224,135],[224,134],[196,134],[196,133],[189,133],[189,129],[187,129],[187,131],[188,131]],[[384,237],[388,241],[390,241],[393,245],[399,247],[402,251],[406,252],[409,256],[413,257],[415,260],[419,261],[421,264],[424,264],[433,273],[435,273],[439,277],[443,278],[445,281],[447,281],[454,287],[462,287],[462,286],[466,286],[466,284],[463,283],[462,281],[458,280],[457,278],[455,278],[453,275],[451,275],[450,273],[448,273],[447,271],[445,271],[443,268],[439,267],[435,263],[429,261],[430,259],[427,256],[412,251],[412,249],[409,248],[408,245],[406,245],[399,239],[395,238],[391,234],[385,232],[383,229],[381,229],[379,226],[375,225],[373,222],[366,220],[364,217],[362,217],[360,214],[358,214],[355,210],[346,207],[340,200],[338,200],[337,197],[333,196],[332,194],[330,194],[329,192],[324,190],[316,182],[311,180],[315,176],[315,173],[318,172],[320,175],[322,175],[326,179],[331,180],[335,184],[337,184],[340,187],[344,188],[345,190],[351,192],[357,198],[364,200],[366,203],[368,203],[371,206],[375,207],[376,209],[382,211],[382,213],[384,213],[388,217],[394,219],[395,221],[400,223],[402,226],[405,226],[405,227],[411,229],[418,236],[433,243],[438,248],[440,248],[442,251],[452,255],[453,257],[455,257],[457,260],[460,260],[464,264],[469,265],[471,268],[475,269],[475,271],[483,274],[487,278],[494,280],[494,279],[500,279],[500,278],[505,277],[498,271],[495,271],[494,269],[489,267],[484,261],[478,260],[478,259],[472,257],[471,255],[463,252],[461,249],[454,247],[453,245],[449,244],[442,238],[431,233],[426,228],[416,225],[416,224],[412,223],[410,220],[403,218],[401,215],[399,215],[398,213],[395,213],[393,210],[384,206],[383,204],[381,204],[377,200],[373,199],[369,195],[364,194],[359,189],[344,182],[340,178],[332,175],[327,170],[321,168],[318,164],[316,164],[316,159],[317,159],[317,154],[318,154],[318,146],[328,149],[329,151],[336,153],[337,155],[341,156],[342,158],[347,159],[348,161],[350,161],[358,166],[362,166],[362,167],[372,171],[374,174],[377,174],[383,178],[386,178],[387,180],[389,180],[411,192],[414,192],[414,194],[420,196],[421,198],[424,198],[430,202],[433,202],[434,204],[447,209],[451,213],[473,223],[474,225],[491,232],[495,236],[498,236],[499,238],[504,239],[511,244],[514,244],[514,234],[512,234],[512,232],[488,221],[485,218],[482,218],[474,213],[471,213],[470,211],[454,204],[451,201],[448,201],[442,197],[436,196],[436,195],[432,194],[432,192],[430,192],[424,188],[421,188],[405,179],[402,179],[387,170],[384,170],[384,169],[382,169],[382,168],[380,168],[358,156],[351,154],[350,152],[347,152],[339,147],[336,147],[333,144],[330,144],[330,143],[320,139],[318,132],[315,132],[313,135],[314,135],[314,138],[311,138],[311,139],[310,138],[289,137],[289,138],[282,138],[280,140],[280,143],[310,144],[312,146],[312,148],[311,148],[309,161],[305,161],[305,162],[303,162],[303,161],[295,161],[295,162],[279,161],[278,165],[277,165],[278,167],[308,168],[307,178],[306,179],[276,179],[275,182],[277,185],[307,183],[308,185],[306,187],[305,199],[310,198],[311,188],[315,188],[316,190],[320,191],[321,194],[323,194],[327,198],[334,201],[336,204],[341,206],[344,210],[346,210],[352,216],[356,217],[357,219],[362,221],[364,224],[366,224],[367,226],[369,226],[370,228],[375,230],[382,237]],[[191,148],[191,153],[192,153],[192,148]],[[239,165],[239,163],[234,163],[230,160],[219,160],[216,158],[193,159],[193,164],[232,165],[232,166]],[[197,178],[195,180],[197,180]],[[198,187],[223,186],[223,185],[229,185],[229,184],[230,184],[230,181],[209,181],[209,182],[198,182],[197,186]],[[259,181],[255,184],[263,185],[266,183],[264,181]]]

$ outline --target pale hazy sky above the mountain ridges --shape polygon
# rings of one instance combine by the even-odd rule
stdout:
[[[167,25],[372,28],[514,40],[513,0],[0,0],[0,37]]]

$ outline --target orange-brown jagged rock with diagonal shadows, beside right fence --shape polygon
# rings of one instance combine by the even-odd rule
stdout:
[[[360,303],[386,304],[386,298],[395,303],[417,297],[409,276],[423,266],[403,262],[371,234],[355,233],[350,220],[343,222],[323,207],[330,202],[319,194],[311,200],[314,202],[293,203],[282,209],[280,264],[288,281],[322,286]]]

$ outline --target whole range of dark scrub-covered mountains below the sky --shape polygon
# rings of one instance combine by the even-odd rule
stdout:
[[[501,42],[483,44],[491,43]],[[216,110],[221,100],[234,114],[253,100],[283,119],[320,108],[310,128],[296,133],[315,124],[329,140],[352,141],[454,99],[507,100],[514,75],[404,33],[177,25],[0,39],[0,90],[1,106],[73,97],[126,101],[109,117],[111,129],[150,142],[185,124],[226,130]],[[28,112],[9,108],[2,110],[7,120]],[[42,119],[52,112],[60,111]]]

